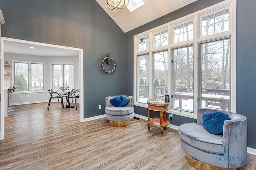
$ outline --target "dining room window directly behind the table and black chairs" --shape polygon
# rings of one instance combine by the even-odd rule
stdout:
[[[58,90],[59,87],[69,87],[73,89],[74,64],[52,64],[52,89]]]

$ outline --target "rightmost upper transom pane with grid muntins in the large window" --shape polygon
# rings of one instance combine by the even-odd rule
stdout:
[[[229,31],[229,9],[201,17],[201,37]]]

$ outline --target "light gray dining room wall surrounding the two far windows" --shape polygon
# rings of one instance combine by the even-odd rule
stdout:
[[[42,56],[34,56],[34,55],[21,55],[21,54],[11,54],[11,53],[4,53],[4,60],[8,61],[11,64],[11,67],[6,68],[8,72],[12,72],[13,65],[12,61],[34,61],[34,62],[44,62],[45,63],[45,74],[46,74],[46,89],[52,88],[50,84],[50,63],[62,63],[65,62],[72,62],[74,63],[74,89],[78,89],[78,62],[79,57],[42,57]],[[14,74],[12,74],[12,77]],[[13,83],[11,84],[13,85]],[[16,105],[21,103],[31,104],[37,102],[48,102],[49,100],[49,93],[44,90],[44,92],[40,93],[26,93],[26,94],[10,94],[10,105]],[[30,95],[30,98],[28,98]],[[57,99],[58,101],[58,99]]]

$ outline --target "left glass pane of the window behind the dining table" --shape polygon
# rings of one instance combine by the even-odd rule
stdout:
[[[62,87],[62,65],[61,64],[52,64],[52,89],[58,90],[59,87]]]

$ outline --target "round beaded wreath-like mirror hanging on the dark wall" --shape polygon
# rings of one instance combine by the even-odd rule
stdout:
[[[106,73],[112,73],[116,70],[116,61],[111,57],[110,53],[101,60],[101,68]]]

